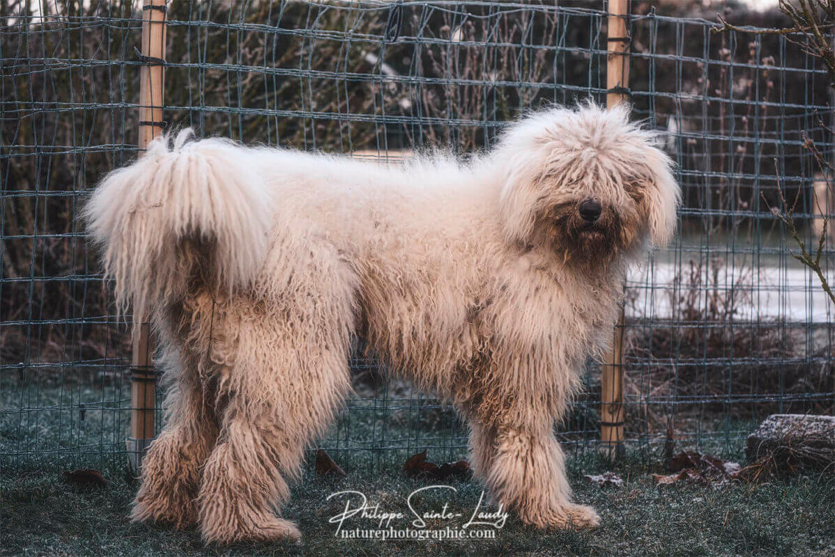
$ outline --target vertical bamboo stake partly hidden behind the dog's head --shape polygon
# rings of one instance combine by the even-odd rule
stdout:
[[[629,0],[609,0],[607,43],[609,54],[606,65],[606,106],[624,103],[629,90]],[[602,366],[600,449],[614,460],[624,452],[624,309],[615,328],[612,350]]]

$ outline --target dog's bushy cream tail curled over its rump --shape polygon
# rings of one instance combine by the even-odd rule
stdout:
[[[195,281],[245,288],[264,263],[272,196],[252,152],[192,136],[157,138],[138,161],[109,173],[84,208],[119,311],[132,306],[134,324]]]

